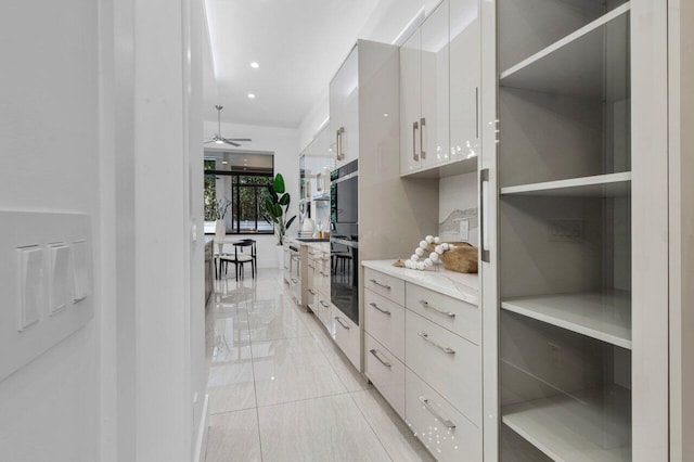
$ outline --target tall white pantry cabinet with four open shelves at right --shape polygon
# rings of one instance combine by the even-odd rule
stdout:
[[[483,2],[485,460],[668,458],[666,13]]]

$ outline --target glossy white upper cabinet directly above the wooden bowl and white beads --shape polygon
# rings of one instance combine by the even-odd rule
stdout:
[[[446,176],[477,167],[478,11],[477,0],[444,0],[400,48],[403,176]],[[467,167],[459,164],[471,158]]]

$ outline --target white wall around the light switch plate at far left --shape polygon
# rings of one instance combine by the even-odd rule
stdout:
[[[94,242],[98,24],[91,0],[5,2],[0,14],[0,208],[87,213]],[[0,460],[99,459],[103,288],[92,321],[0,382]],[[0,309],[11,307],[0,298]]]

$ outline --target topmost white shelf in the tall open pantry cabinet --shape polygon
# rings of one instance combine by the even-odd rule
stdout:
[[[527,60],[501,73],[502,87],[545,93],[603,99],[605,28],[625,27],[631,2],[627,2],[575,33],[552,43]],[[628,55],[628,38],[612,43]]]

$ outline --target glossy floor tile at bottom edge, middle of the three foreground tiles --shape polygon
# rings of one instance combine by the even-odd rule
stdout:
[[[264,462],[390,461],[349,395],[258,409]]]

